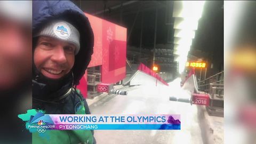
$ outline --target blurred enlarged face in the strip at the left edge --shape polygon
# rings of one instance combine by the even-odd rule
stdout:
[[[31,26],[0,15],[0,91],[31,79]]]

